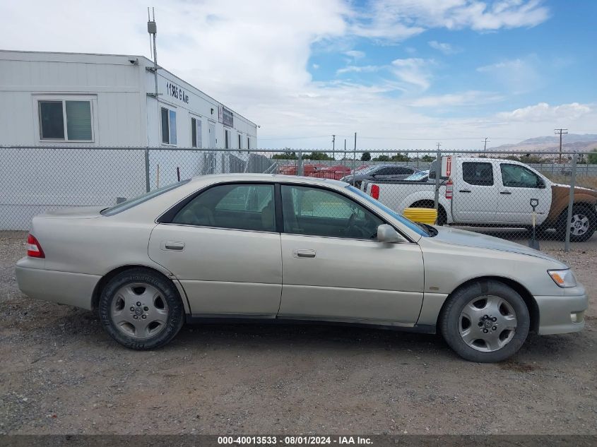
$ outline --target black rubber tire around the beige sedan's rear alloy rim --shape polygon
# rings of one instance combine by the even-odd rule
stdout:
[[[143,289],[144,286],[146,289]],[[143,294],[148,289],[157,291],[158,303],[155,304],[155,302],[152,302],[151,304],[155,304],[156,311],[165,312],[165,314],[160,314],[160,316],[157,317],[160,318],[160,320],[163,320],[163,323],[158,324],[152,323],[148,319],[145,319],[144,321],[138,319],[140,316],[143,317],[143,315],[146,315],[147,317],[147,315],[150,315],[146,314],[143,309],[153,310],[153,307],[143,307],[146,303],[141,303],[141,301],[147,301],[147,299],[143,298],[138,298],[138,303],[143,305],[139,306],[139,308],[137,308],[136,303],[132,304],[132,302],[126,302],[128,300],[125,300],[123,295],[119,292],[123,289],[126,290],[126,287],[131,287],[130,290],[134,291],[134,293],[137,293],[142,289]],[[139,294],[138,296],[145,297],[143,294]],[[147,296],[150,296],[150,294]],[[130,297],[133,298],[132,295],[130,295]],[[117,300],[117,302],[114,302],[114,300]],[[122,309],[118,309],[118,306],[122,305],[120,302],[124,303]],[[160,306],[162,310],[160,310]],[[184,324],[184,306],[182,305],[176,287],[165,277],[148,268],[131,268],[131,270],[125,270],[114,276],[102,290],[98,307],[100,321],[107,333],[121,345],[134,350],[150,350],[165,345],[177,335]],[[135,316],[137,309],[141,310],[139,311],[139,314]],[[165,311],[163,309],[165,309]],[[131,323],[126,323],[124,319],[117,325],[117,321],[114,321],[117,317],[113,316],[116,312],[121,312],[122,318],[124,319],[129,319],[128,314],[130,313],[130,318],[136,318],[135,323],[139,325],[145,322],[147,322],[147,327],[149,327],[150,324],[157,325],[153,328],[153,330],[156,331],[155,335],[148,335],[150,334],[149,330],[147,331],[146,336],[135,336],[127,333],[127,330],[136,332],[135,326]],[[126,324],[129,324],[131,328],[126,327]]]

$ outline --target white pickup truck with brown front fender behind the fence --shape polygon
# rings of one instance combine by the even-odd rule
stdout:
[[[398,213],[405,208],[433,208],[435,179],[370,182],[365,192]],[[538,200],[539,230],[566,232],[569,186],[554,184],[521,162],[477,157],[453,157],[451,174],[439,189],[438,225],[529,227],[531,198]],[[597,191],[574,188],[570,240],[584,242],[597,227]]]

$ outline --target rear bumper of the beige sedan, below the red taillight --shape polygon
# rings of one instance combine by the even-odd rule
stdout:
[[[21,259],[15,271],[18,288],[28,297],[92,309],[93,290],[100,276],[31,268],[27,264],[28,258]]]

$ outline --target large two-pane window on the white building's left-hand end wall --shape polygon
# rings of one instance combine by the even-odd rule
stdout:
[[[93,141],[91,101],[38,101],[40,139]]]

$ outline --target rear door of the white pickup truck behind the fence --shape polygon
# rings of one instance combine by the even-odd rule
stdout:
[[[496,222],[498,188],[491,162],[458,160],[452,215],[455,222]]]

